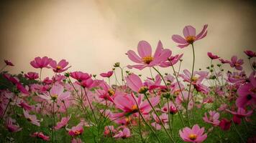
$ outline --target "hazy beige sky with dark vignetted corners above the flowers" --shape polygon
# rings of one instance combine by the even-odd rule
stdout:
[[[250,70],[243,51],[256,51],[252,1],[55,0],[6,1],[0,6],[0,60],[15,64],[12,73],[38,71],[29,61],[49,56],[67,59],[70,71],[99,74],[116,61],[132,64],[125,53],[137,51],[140,40],[149,41],[153,51],[161,40],[174,54],[184,53],[183,69],[191,70],[191,46],[179,49],[170,38],[189,24],[197,32],[209,24],[206,38],[195,44],[196,69],[209,65],[206,53],[212,51],[224,59],[238,55]],[[149,75],[149,69],[132,71]],[[45,70],[44,76],[49,73]]]

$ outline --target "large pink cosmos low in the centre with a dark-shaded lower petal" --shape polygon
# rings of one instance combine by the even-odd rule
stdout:
[[[140,94],[139,97],[137,98],[134,96],[133,93],[131,93],[131,95],[120,94],[116,96],[116,98],[114,99],[114,103],[118,109],[121,109],[123,111],[122,114],[118,114],[118,117],[124,117],[124,115],[137,113],[139,112],[139,109],[142,114],[148,114],[152,110],[152,108],[150,107],[149,102],[142,101],[143,97],[144,95]],[[134,99],[136,100],[139,107],[137,107],[137,104],[134,101]],[[150,99],[150,102],[153,107],[155,107],[159,103],[159,101],[159,97],[152,97]]]

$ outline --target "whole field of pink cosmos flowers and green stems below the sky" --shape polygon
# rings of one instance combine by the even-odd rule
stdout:
[[[0,142],[255,143],[256,53],[241,51],[248,58],[240,59],[209,51],[209,66],[195,69],[207,27],[185,26],[170,40],[191,49],[193,59],[142,40],[126,53],[134,64],[116,62],[100,75],[70,71],[72,63],[47,56],[31,60],[34,71],[9,74],[15,63],[4,60]],[[183,60],[193,64],[180,69]],[[171,72],[161,73],[165,68]],[[45,69],[54,76],[42,78]],[[147,69],[151,77],[133,73]]]

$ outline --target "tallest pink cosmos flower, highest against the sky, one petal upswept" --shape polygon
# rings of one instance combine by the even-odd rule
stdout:
[[[196,35],[196,29],[193,26],[185,26],[183,29],[184,38],[180,35],[173,35],[172,39],[176,43],[178,43],[178,47],[184,48],[188,46],[189,44],[193,44],[194,41],[203,39],[207,34],[207,26],[208,24],[204,25],[204,28],[202,31]]]

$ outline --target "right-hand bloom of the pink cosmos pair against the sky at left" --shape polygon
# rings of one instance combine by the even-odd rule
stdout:
[[[65,59],[60,60],[60,62],[58,62],[55,60],[52,60],[50,62],[50,66],[52,67],[53,71],[57,72],[57,73],[61,73],[63,71],[66,71],[68,68],[70,68],[71,66],[68,66],[68,61],[66,61]],[[68,66],[68,67],[66,67]]]

